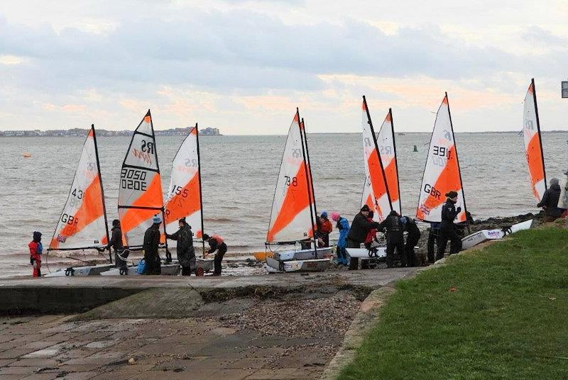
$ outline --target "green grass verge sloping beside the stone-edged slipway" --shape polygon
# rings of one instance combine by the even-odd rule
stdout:
[[[399,281],[339,379],[568,379],[568,230],[521,231]]]

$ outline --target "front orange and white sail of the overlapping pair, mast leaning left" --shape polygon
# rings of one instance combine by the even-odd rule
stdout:
[[[374,212],[373,219],[382,221],[393,210],[389,196],[390,189],[387,186],[383,162],[381,161],[381,155],[379,154],[376,135],[371,121],[371,114],[368,112],[365,96],[363,96],[363,105],[361,109],[363,110],[361,127],[363,128],[363,152],[366,174],[361,206],[367,205]]]

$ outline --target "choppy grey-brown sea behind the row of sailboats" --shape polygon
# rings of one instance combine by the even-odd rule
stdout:
[[[156,138],[164,194],[183,138]],[[359,211],[365,179],[361,134],[308,134],[307,139],[317,211],[338,211],[351,220]],[[285,135],[200,136],[204,231],[221,235],[231,253],[264,250],[285,140]],[[403,214],[414,216],[430,133],[399,133],[395,140]],[[538,211],[522,135],[456,133],[455,140],[466,205],[474,218]],[[568,132],[542,133],[548,179],[562,178],[568,168],[567,140]],[[117,218],[119,175],[129,141],[97,138],[109,223]],[[0,277],[31,274],[28,242],[38,230],[48,245],[83,143],[84,138],[0,138]],[[31,157],[23,157],[24,152]],[[49,262],[56,267],[93,257],[96,252],[59,252],[50,254]]]

